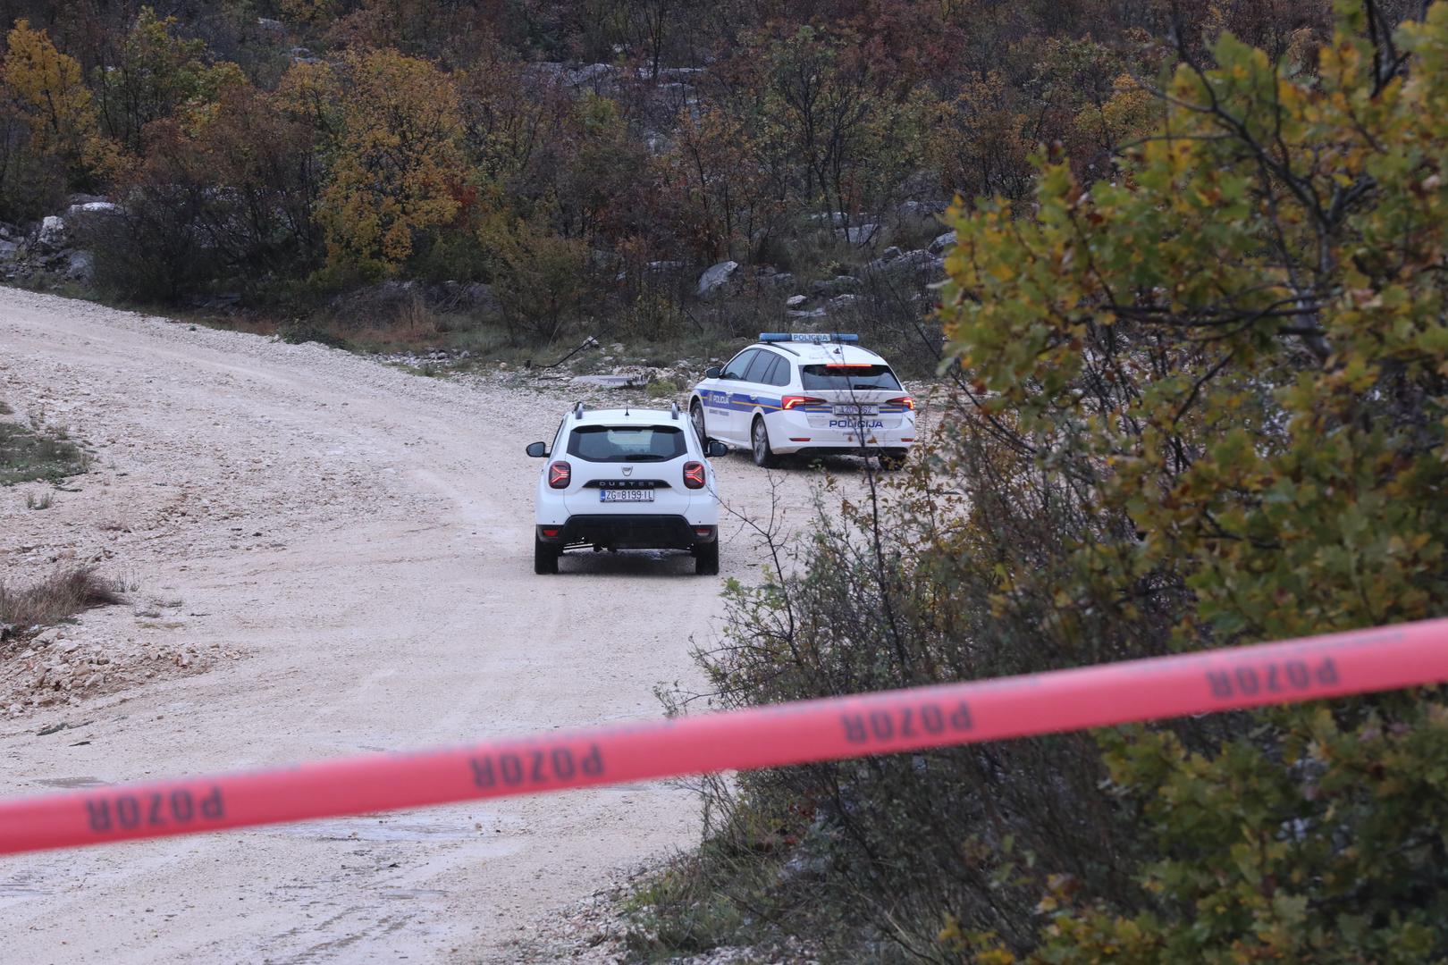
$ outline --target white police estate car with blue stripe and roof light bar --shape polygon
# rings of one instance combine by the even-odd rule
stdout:
[[[915,401],[859,336],[763,333],[705,372],[689,398],[699,438],[776,456],[877,456],[896,463],[915,443]]]

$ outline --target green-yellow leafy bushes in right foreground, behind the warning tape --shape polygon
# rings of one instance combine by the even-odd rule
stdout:
[[[951,211],[946,431],[731,587],[710,703],[1448,612],[1448,4],[1377,13],[1224,33],[1114,182]],[[747,774],[634,948],[1445,961],[1445,791],[1441,687]]]

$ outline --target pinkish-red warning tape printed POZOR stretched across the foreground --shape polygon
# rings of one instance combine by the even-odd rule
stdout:
[[[918,751],[1439,681],[1448,681],[1448,619],[460,748],[0,800],[0,854]]]

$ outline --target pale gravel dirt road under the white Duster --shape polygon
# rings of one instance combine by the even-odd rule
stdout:
[[[723,577],[682,556],[531,573],[523,447],[556,395],[0,289],[0,399],[96,453],[43,512],[0,490],[0,574],[94,560],[135,587],[61,657],[10,655],[38,676],[0,693],[0,794],[653,716],[720,613]],[[717,462],[766,512],[763,473]],[[799,518],[807,473],[783,492]],[[749,579],[754,538],[724,538]],[[74,692],[46,676],[78,666]],[[696,820],[652,783],[6,858],[0,958],[517,961]]]

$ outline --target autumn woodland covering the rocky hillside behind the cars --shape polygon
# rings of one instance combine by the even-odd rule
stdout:
[[[1229,29],[1310,64],[1328,20],[1321,0],[0,3],[0,253],[30,284],[297,337],[767,321],[933,363],[951,198],[1028,198],[1038,150],[1115,178],[1173,62]]]

